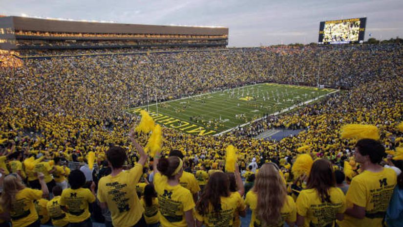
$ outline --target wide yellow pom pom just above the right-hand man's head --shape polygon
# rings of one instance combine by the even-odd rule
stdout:
[[[348,124],[341,127],[341,138],[376,139],[378,140],[378,128],[374,125]]]

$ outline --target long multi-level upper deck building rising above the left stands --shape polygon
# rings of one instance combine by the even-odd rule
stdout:
[[[228,28],[0,18],[0,49],[221,46]]]

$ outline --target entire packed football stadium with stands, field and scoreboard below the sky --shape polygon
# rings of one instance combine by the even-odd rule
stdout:
[[[0,227],[401,226],[402,42],[365,28],[0,17]]]

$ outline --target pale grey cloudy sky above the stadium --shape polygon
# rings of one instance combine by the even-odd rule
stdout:
[[[0,15],[224,26],[230,47],[318,42],[320,21],[358,17],[365,40],[403,37],[403,0],[0,0]]]

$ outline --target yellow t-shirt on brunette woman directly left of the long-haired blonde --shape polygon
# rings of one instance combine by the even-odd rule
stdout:
[[[217,215],[209,205],[209,213],[201,215],[195,212],[196,219],[203,222],[206,227],[233,226],[234,215],[237,210],[245,210],[246,205],[238,192],[231,193],[229,197],[221,197],[221,209]]]

